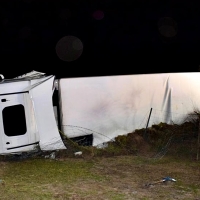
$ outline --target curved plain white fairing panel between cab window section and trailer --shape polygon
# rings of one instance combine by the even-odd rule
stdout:
[[[52,103],[52,87],[54,76],[49,76],[41,84],[30,88],[34,102],[37,128],[42,150],[66,149],[60,136]]]

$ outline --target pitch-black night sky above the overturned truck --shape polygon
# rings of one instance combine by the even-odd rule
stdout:
[[[195,72],[199,58],[198,1],[0,1],[5,78]]]

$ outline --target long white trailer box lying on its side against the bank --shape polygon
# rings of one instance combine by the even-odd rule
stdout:
[[[94,146],[147,122],[180,124],[200,108],[199,72],[62,78],[58,84],[62,132],[93,134]]]

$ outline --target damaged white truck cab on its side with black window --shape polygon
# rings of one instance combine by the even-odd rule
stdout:
[[[0,154],[66,149],[52,95],[55,76],[32,71],[0,81]]]

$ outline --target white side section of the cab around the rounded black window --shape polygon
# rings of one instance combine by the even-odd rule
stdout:
[[[32,149],[38,142],[34,113],[28,92],[0,95],[0,133],[4,151]]]

